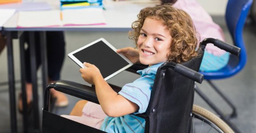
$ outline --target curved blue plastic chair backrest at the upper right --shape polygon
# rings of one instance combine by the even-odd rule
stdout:
[[[234,74],[242,70],[246,64],[247,54],[243,42],[243,26],[253,0],[229,0],[226,8],[226,23],[232,36],[234,45],[242,49],[239,64],[234,69]]]

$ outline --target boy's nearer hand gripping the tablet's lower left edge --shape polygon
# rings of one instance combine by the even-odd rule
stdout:
[[[82,78],[89,84],[94,84],[97,78],[103,78],[101,72],[95,65],[86,62],[83,65],[87,68],[80,68],[79,72],[82,73]]]

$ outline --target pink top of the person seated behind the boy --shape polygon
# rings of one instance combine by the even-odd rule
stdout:
[[[190,15],[196,30],[201,36],[200,41],[203,41],[205,38],[218,38],[219,40],[226,41],[221,27],[213,22],[211,16],[195,0],[177,0],[173,6],[186,11]],[[215,56],[226,53],[226,51],[219,49],[213,44],[207,44],[205,49],[208,53]]]

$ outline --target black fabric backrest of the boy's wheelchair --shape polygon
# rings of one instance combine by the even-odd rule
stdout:
[[[199,53],[201,56],[193,57],[181,65],[199,71],[203,51],[204,49],[202,53]],[[158,68],[147,108],[149,133],[187,133],[190,131],[194,84],[194,81],[172,69],[160,70]]]

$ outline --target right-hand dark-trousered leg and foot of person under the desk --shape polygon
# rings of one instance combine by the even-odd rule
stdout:
[[[49,83],[60,79],[60,71],[65,56],[65,42],[63,32],[46,32],[48,77]],[[56,106],[67,106],[69,101],[66,95],[51,89],[51,95],[57,98]]]

